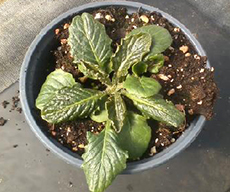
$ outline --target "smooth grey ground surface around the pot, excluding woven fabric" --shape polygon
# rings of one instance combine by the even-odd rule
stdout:
[[[194,33],[215,67],[220,98],[215,107],[215,117],[206,123],[189,148],[158,168],[118,176],[107,191],[230,192],[228,27],[215,20],[212,14],[206,14],[207,10],[201,9],[197,1],[141,2],[168,12]],[[226,6],[222,8],[226,9]],[[220,12],[219,16],[223,14]],[[0,94],[0,102],[11,100],[17,90],[18,83]],[[87,192],[83,171],[48,152],[30,130],[23,114],[10,113],[9,110],[10,106],[6,110],[0,106],[0,117],[9,119],[5,126],[0,127],[0,192]]]

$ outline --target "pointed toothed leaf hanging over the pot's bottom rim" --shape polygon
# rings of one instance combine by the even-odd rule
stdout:
[[[91,192],[103,192],[126,168],[127,152],[118,145],[118,137],[107,121],[99,135],[87,133],[89,144],[82,158],[82,165]]]

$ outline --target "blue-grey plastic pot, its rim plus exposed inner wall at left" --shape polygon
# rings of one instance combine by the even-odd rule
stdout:
[[[39,113],[35,107],[35,99],[40,91],[41,85],[44,83],[46,76],[53,70],[52,63],[52,53],[50,50],[57,46],[57,42],[54,39],[54,30],[63,24],[63,22],[71,18],[74,14],[80,14],[82,12],[92,11],[93,9],[103,8],[107,6],[123,6],[126,7],[128,12],[136,12],[140,7],[146,11],[157,11],[161,13],[165,18],[167,18],[175,26],[178,26],[190,39],[191,43],[196,48],[197,52],[205,56],[205,52],[201,47],[200,43],[194,38],[191,32],[178,20],[172,16],[160,11],[157,8],[144,5],[136,2],[96,2],[90,3],[83,6],[73,8],[66,13],[60,15],[54,19],[50,24],[48,24],[32,42],[29,50],[26,53],[24,62],[21,67],[20,73],[20,98],[22,103],[22,109],[25,114],[26,120],[29,123],[31,129],[34,131],[39,140],[52,152],[57,154],[57,156],[64,159],[67,163],[70,163],[76,167],[80,167],[82,164],[82,159],[79,155],[71,152],[69,149],[63,147],[60,143],[54,140],[45,131],[46,127],[39,117]],[[208,62],[208,67],[210,64]],[[167,149],[158,153],[157,155],[140,160],[137,162],[132,162],[127,164],[124,174],[131,174],[140,171],[144,171],[153,167],[156,167],[188,147],[192,141],[197,137],[205,123],[205,118],[203,116],[197,117],[190,127],[186,129],[183,135]]]

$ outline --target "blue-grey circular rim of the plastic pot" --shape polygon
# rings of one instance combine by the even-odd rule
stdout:
[[[172,17],[171,15],[159,10],[158,8],[145,5],[138,2],[131,2],[131,1],[116,1],[116,2],[93,2],[81,5],[79,7],[72,8],[67,12],[61,14],[60,16],[56,17],[53,21],[51,21],[46,27],[44,27],[41,32],[37,35],[37,37],[33,40],[32,44],[30,45],[23,64],[21,66],[20,71],[20,80],[19,80],[19,88],[20,88],[20,98],[21,98],[21,105],[23,112],[25,114],[26,120],[37,136],[37,138],[53,153],[55,153],[58,157],[65,160],[67,163],[72,164],[77,167],[81,167],[82,160],[77,159],[76,157],[69,154],[66,150],[59,148],[55,145],[49,137],[47,137],[40,129],[40,127],[36,124],[35,119],[32,116],[31,109],[29,108],[27,96],[26,96],[26,71],[30,64],[30,58],[33,52],[36,50],[37,44],[40,42],[42,38],[45,38],[48,31],[52,29],[52,27],[67,18],[70,15],[76,14],[78,12],[82,12],[87,9],[97,9],[101,7],[107,6],[123,6],[126,7],[127,10],[129,8],[138,10],[138,8],[142,8],[146,11],[156,11],[162,14],[163,17],[168,19],[172,24],[179,27],[186,35],[186,37],[190,40],[193,46],[196,48],[197,52],[201,56],[206,56],[205,51],[203,50],[200,43],[197,39],[192,35],[192,33],[177,19]],[[210,68],[210,63],[207,61],[207,67]],[[202,127],[205,124],[205,118],[203,116],[198,116],[196,121],[194,120],[191,125],[185,130],[185,132],[177,139],[177,141],[171,144],[168,148],[164,149],[162,152],[154,155],[153,157],[149,157],[140,161],[130,162],[127,163],[127,168],[122,172],[122,174],[132,174],[137,173],[140,171],[144,171],[153,167],[157,167],[160,164],[163,164],[167,160],[176,156],[179,152],[183,151],[187,148],[194,139],[198,136]]]

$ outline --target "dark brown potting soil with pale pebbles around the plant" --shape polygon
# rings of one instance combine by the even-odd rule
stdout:
[[[164,67],[158,74],[149,74],[162,85],[162,94],[165,99],[172,101],[175,106],[186,114],[186,122],[175,129],[162,123],[149,120],[152,128],[152,139],[149,149],[143,157],[152,156],[174,143],[183,131],[190,125],[196,115],[204,115],[207,119],[213,116],[213,104],[217,97],[217,87],[214,82],[214,69],[206,68],[206,57],[201,57],[186,38],[180,28],[172,25],[167,19],[157,12],[127,14],[125,8],[109,7],[92,12],[95,19],[105,25],[106,32],[113,40],[112,48],[115,51],[121,38],[125,37],[132,29],[143,25],[155,24],[166,28],[173,43],[163,54]],[[53,50],[56,60],[55,67],[71,73],[76,81],[86,87],[103,89],[103,85],[84,77],[73,64],[67,44],[68,28],[71,21],[65,22],[55,30],[59,46]],[[156,128],[157,127],[157,128]],[[78,154],[84,152],[87,145],[86,132],[98,134],[104,125],[90,119],[75,120],[57,125],[48,124],[49,133],[61,144]]]

